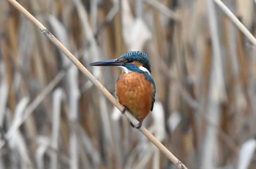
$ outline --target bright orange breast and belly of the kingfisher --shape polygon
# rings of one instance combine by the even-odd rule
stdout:
[[[116,82],[118,101],[126,106],[132,115],[142,122],[148,115],[152,103],[153,85],[144,74],[122,73]]]

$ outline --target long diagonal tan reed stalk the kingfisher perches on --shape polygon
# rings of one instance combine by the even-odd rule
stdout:
[[[50,39],[51,42],[53,42],[53,44],[55,44],[57,47],[59,47],[59,50],[61,50],[61,52],[64,52],[65,55],[67,55],[67,57],[69,58],[69,60],[72,61],[72,63],[75,64],[75,66],[77,66],[80,71],[87,76],[91,82],[93,82],[93,84],[108,98],[108,100],[113,103],[114,106],[116,106],[120,111],[123,110],[123,106],[118,103],[118,101],[116,100],[116,98],[113,97],[113,95],[111,95],[108,90],[105,89],[105,87],[82,65],[82,63],[79,62],[79,60],[77,58],[75,58],[74,55],[72,55],[71,52],[69,52],[69,50],[67,50],[66,47],[64,47],[63,44],[61,44],[61,42],[59,42],[58,39],[56,39],[55,36],[53,36],[53,34],[50,33],[50,31],[48,31],[47,28],[45,28],[44,25],[42,25],[42,23],[40,23],[33,15],[31,15],[25,8],[23,8],[17,1],[15,0],[8,0],[16,9],[18,9],[19,12],[23,13],[23,15],[25,15],[26,17],[28,17],[29,20],[31,20],[32,23],[34,23],[35,25],[37,25],[37,27],[39,28],[39,30],[45,34],[45,36],[48,37],[48,39]],[[124,112],[124,116],[127,117],[127,119],[129,119],[130,122],[132,122],[132,124],[138,124],[138,121],[132,117],[131,114],[129,114],[129,112]],[[18,128],[18,127],[17,127]],[[177,168],[182,168],[185,169],[187,168],[180,160],[178,160],[164,145],[162,145],[157,138],[154,137],[154,135],[152,135],[145,127],[141,126],[140,127],[140,132],[143,133],[143,135],[145,135],[155,146],[157,146],[157,148],[163,153],[165,154],[165,156],[172,161]]]

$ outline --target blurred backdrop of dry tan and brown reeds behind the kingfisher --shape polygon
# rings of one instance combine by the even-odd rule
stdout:
[[[223,2],[256,35],[255,2]],[[219,7],[20,4],[84,65],[148,53],[157,103],[143,124],[187,168],[256,167],[256,47]],[[118,68],[86,68],[114,95]],[[0,1],[0,132],[0,168],[175,168],[7,1]]]

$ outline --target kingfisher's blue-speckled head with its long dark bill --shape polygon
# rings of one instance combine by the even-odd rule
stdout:
[[[148,55],[140,51],[131,51],[124,53],[120,57],[111,60],[101,60],[93,63],[89,63],[91,66],[118,66],[126,73],[129,71],[138,70],[151,73],[151,66],[148,59]],[[136,67],[135,67],[136,66]]]

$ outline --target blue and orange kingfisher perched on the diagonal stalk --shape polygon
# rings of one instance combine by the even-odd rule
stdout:
[[[126,52],[111,60],[100,60],[89,63],[90,66],[118,66],[122,73],[116,81],[116,96],[118,102],[124,106],[138,120],[140,128],[143,119],[154,108],[156,85],[151,77],[151,65],[148,55],[140,51]]]

